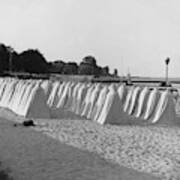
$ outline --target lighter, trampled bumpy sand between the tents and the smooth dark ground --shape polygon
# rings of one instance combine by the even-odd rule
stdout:
[[[152,173],[163,180],[180,177],[179,127],[102,126],[92,121],[39,121],[48,136],[95,152],[112,163]]]

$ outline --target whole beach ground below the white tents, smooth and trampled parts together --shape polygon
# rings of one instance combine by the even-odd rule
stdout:
[[[180,179],[179,127],[102,126],[83,119],[13,127],[25,118],[6,109],[0,119],[0,160],[17,180]]]

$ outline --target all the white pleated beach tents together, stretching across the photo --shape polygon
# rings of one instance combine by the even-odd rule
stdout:
[[[0,106],[28,118],[60,118],[54,110],[71,112],[100,124],[176,119],[169,90],[124,84],[50,80],[0,79]]]

